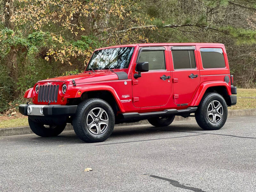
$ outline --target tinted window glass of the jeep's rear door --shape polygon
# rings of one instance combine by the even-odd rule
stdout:
[[[172,50],[174,69],[196,68],[194,50]]]

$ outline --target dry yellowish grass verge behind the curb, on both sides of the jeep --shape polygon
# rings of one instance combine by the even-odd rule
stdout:
[[[229,107],[228,110],[256,108],[256,99],[239,98],[239,97],[256,97],[256,89],[237,89],[237,103],[236,105]],[[22,126],[28,126],[27,117],[8,119],[8,120],[0,119],[0,128],[22,127]]]

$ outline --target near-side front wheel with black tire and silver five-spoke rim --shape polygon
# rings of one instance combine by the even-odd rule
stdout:
[[[85,142],[101,142],[111,135],[115,126],[115,115],[109,104],[93,98],[81,102],[73,118],[76,135]]]

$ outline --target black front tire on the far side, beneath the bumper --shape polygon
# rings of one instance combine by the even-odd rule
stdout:
[[[54,137],[59,135],[66,127],[66,123],[63,125],[49,125],[49,127],[46,127],[42,123],[37,123],[35,121],[32,121],[28,117],[28,124],[30,129],[38,136],[40,137]]]

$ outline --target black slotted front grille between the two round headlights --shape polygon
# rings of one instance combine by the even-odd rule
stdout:
[[[59,85],[40,85],[38,90],[38,102],[57,102]]]

